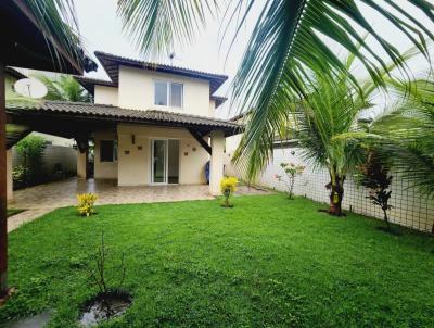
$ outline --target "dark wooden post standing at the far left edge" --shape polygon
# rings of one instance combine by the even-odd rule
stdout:
[[[0,299],[8,295],[7,201],[7,110],[4,89],[4,63],[0,61]]]

